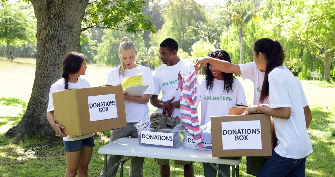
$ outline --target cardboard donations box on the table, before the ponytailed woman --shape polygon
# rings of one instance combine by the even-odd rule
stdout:
[[[275,146],[272,118],[266,114],[240,115],[246,107],[229,108],[229,116],[211,117],[212,156],[271,156]]]

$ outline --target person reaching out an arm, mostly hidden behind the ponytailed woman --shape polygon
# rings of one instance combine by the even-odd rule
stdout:
[[[227,61],[218,60],[211,57],[200,57],[197,58],[195,63],[195,69],[199,71],[202,67],[206,66],[209,63],[215,66],[222,72],[226,73],[237,73],[242,74],[243,79],[250,79],[254,82],[254,105],[257,104],[269,104],[269,100],[265,100],[263,103],[259,102],[259,98],[261,95],[263,80],[264,80],[264,70],[258,69],[256,63],[253,61],[251,63],[246,64],[233,64]],[[300,88],[302,90],[302,87]],[[305,120],[306,126],[308,128],[311,120],[312,115],[310,113],[309,106],[304,107],[305,112]],[[258,172],[261,170],[263,165],[265,164],[267,158],[263,157],[247,157],[246,164],[247,164],[247,173],[256,176]]]

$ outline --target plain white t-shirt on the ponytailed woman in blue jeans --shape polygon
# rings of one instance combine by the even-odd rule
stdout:
[[[270,108],[291,108],[289,119],[273,117],[278,138],[274,151],[286,158],[305,158],[313,152],[313,148],[306,129],[304,107],[308,103],[302,85],[285,66],[274,68],[268,79]]]

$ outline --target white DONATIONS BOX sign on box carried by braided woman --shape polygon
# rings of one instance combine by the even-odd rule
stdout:
[[[115,94],[89,96],[87,100],[91,122],[118,117]]]

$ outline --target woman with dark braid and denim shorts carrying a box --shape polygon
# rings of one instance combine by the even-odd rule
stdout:
[[[94,144],[94,133],[81,136],[66,136],[62,132],[62,125],[55,122],[54,104],[52,93],[68,88],[87,88],[91,85],[87,80],[78,77],[85,75],[86,61],[83,54],[70,52],[66,54],[62,69],[62,78],[53,83],[50,87],[49,105],[47,109],[47,119],[52,128],[56,131],[56,136],[63,137],[66,152],[66,173],[65,176],[87,176],[88,164],[92,157]],[[69,128],[69,127],[67,127]]]

